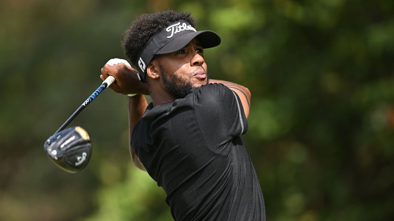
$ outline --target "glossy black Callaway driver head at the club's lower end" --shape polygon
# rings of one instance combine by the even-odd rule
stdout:
[[[92,143],[85,129],[74,126],[49,137],[44,143],[44,149],[57,166],[76,173],[89,163]]]

